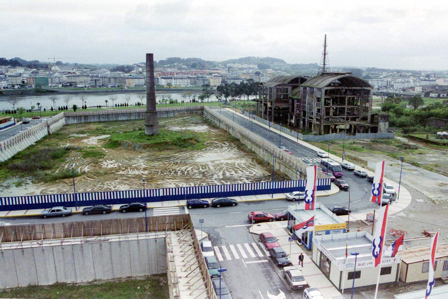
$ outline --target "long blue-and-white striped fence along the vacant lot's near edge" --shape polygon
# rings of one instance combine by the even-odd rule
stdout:
[[[126,204],[129,202],[156,202],[221,196],[245,196],[305,191],[306,180],[258,182],[231,185],[175,187],[146,190],[83,192],[68,194],[0,197],[0,211],[52,208],[55,206],[79,207],[94,204]],[[318,191],[330,190],[329,178],[317,180]]]

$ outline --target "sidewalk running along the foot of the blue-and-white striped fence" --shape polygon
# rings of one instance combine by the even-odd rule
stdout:
[[[325,190],[325,191],[316,191],[317,196],[328,196],[333,195],[339,192],[339,188],[332,184],[331,190]],[[229,197],[233,199],[237,199],[238,202],[250,202],[250,201],[259,201],[259,200],[277,200],[277,199],[285,199],[284,193],[276,193],[273,196],[271,194],[264,194],[264,195],[247,195],[247,196],[233,196]],[[207,198],[206,200],[211,201],[213,198]],[[123,202],[122,204],[127,204],[128,202]],[[64,203],[60,203],[60,205],[63,205]],[[112,211],[118,211],[120,206],[122,204],[112,204]],[[168,200],[168,201],[158,201],[158,202],[151,202],[146,203],[148,208],[166,208],[166,207],[185,207],[186,200]],[[55,203],[55,207],[57,204]],[[75,207],[66,207],[66,208],[72,208],[72,213],[80,213],[83,208],[86,208],[86,206],[78,207],[78,211]],[[40,216],[40,212],[42,212],[43,209],[34,209],[34,210],[17,210],[17,211],[3,211],[0,212],[0,218],[5,217],[27,217],[27,216]],[[187,208],[185,207],[185,212],[188,213]]]

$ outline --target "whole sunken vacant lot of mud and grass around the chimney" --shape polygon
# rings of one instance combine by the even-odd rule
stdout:
[[[271,180],[271,166],[202,116],[160,118],[156,136],[143,122],[64,126],[0,164],[0,192],[69,193],[72,175],[77,192]]]

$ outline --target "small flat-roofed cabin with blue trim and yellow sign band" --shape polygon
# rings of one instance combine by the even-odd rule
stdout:
[[[329,209],[325,208],[323,204],[314,204],[314,211],[305,210],[305,204],[296,204],[288,207],[288,228],[293,234],[302,241],[307,249],[311,249],[313,238],[313,231],[306,231],[297,235],[293,231],[294,225],[307,221],[316,215],[314,219],[316,236],[323,234],[342,234],[345,233],[347,224],[340,217],[337,217]]]

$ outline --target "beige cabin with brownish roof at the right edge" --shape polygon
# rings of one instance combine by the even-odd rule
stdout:
[[[428,241],[428,243],[430,243]],[[430,245],[411,247],[398,251],[401,258],[399,279],[402,282],[428,280]],[[448,244],[437,244],[434,263],[434,277],[448,276]]]

